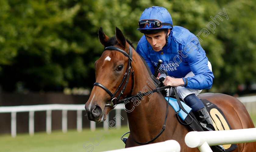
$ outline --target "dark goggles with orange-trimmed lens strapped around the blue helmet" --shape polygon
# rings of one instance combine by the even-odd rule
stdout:
[[[139,29],[144,29],[148,25],[151,29],[161,28],[162,25],[172,26],[170,23],[162,23],[157,19],[141,19],[138,23]],[[173,26],[172,26],[173,27]]]

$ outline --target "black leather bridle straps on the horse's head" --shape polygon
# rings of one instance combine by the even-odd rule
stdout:
[[[130,78],[130,72],[131,72],[131,70],[132,70],[133,85],[132,85],[132,89],[131,89],[129,95],[131,95],[131,93],[133,92],[133,87],[134,87],[134,71],[133,71],[133,68],[132,68],[132,56],[133,56],[133,51],[132,51],[132,47],[131,47],[130,45],[129,45],[129,54],[127,54],[124,50],[122,50],[122,49],[120,49],[120,48],[118,48],[118,47],[113,47],[113,46],[106,47],[106,48],[104,49],[104,51],[105,51],[105,50],[116,50],[116,51],[119,51],[119,52],[123,53],[126,57],[128,57],[128,64],[127,64],[127,67],[126,67],[126,72],[125,72],[125,74],[124,74],[124,76],[123,76],[123,79],[122,79],[122,81],[121,81],[119,87],[117,88],[117,90],[116,90],[116,92],[115,92],[114,94],[112,94],[112,92],[110,92],[110,91],[108,90],[108,88],[106,88],[106,87],[105,87],[104,85],[102,85],[101,83],[98,83],[98,82],[95,82],[95,83],[94,83],[94,85],[97,85],[97,86],[101,87],[103,90],[105,90],[105,91],[110,95],[110,97],[111,97],[111,102],[108,103],[108,104],[106,104],[105,106],[110,106],[110,107],[115,108],[116,105],[119,104],[119,102],[118,102],[118,101],[119,101],[119,98],[121,97],[121,95],[123,94],[123,92],[124,92],[124,90],[125,90],[125,88],[126,88],[126,86],[127,86],[127,83],[128,83],[128,81],[129,81],[129,78]],[[116,96],[116,93],[119,91],[119,89],[120,89],[121,86],[123,85],[125,79],[126,79],[126,82],[125,82],[125,84],[124,84],[124,86],[123,86],[122,91],[119,93],[119,95],[117,95],[117,97],[115,97],[115,96]],[[120,103],[121,103],[121,102],[120,102]]]

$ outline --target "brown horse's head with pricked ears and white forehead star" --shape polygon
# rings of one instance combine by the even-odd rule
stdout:
[[[129,71],[132,70],[133,48],[118,28],[115,37],[108,38],[102,28],[99,29],[98,36],[105,50],[94,64],[96,82],[85,104],[85,110],[89,120],[103,122],[116,101],[131,93],[133,83],[132,78],[129,79],[132,75]],[[129,80],[126,82],[127,79]]]

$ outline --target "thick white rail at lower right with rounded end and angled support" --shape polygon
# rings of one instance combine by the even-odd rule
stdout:
[[[233,143],[248,143],[256,141],[256,128],[219,130],[219,131],[191,131],[185,136],[185,143],[190,148],[198,147],[201,152],[212,152],[210,146]]]

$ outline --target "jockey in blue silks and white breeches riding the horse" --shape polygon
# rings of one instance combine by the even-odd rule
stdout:
[[[214,79],[211,63],[197,37],[188,29],[172,26],[169,12],[158,6],[144,10],[138,30],[144,36],[136,51],[144,57],[151,72],[154,73],[154,67],[161,59],[160,70],[168,73],[163,84],[176,87],[178,95],[192,108],[203,130],[215,130],[204,104],[197,98],[202,89],[212,87]],[[159,78],[163,75],[158,74]],[[225,151],[222,145],[212,148]]]

